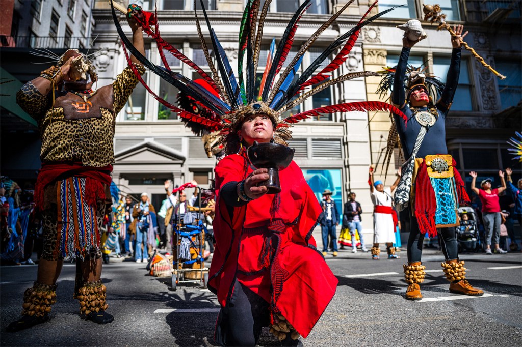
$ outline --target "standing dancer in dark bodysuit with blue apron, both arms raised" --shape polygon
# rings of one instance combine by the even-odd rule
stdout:
[[[414,163],[412,189],[407,193],[410,195],[408,212],[411,218],[408,264],[404,265],[406,281],[409,283],[406,291],[408,300],[422,299],[419,283],[424,281],[425,266],[422,265],[421,256],[426,232],[430,237],[437,233],[442,237],[441,246],[446,259],[442,266],[450,281],[449,291],[474,296],[483,294],[482,290],[473,288],[468,283],[464,261],[459,261],[458,258],[455,237],[455,227],[458,226],[457,208],[459,203],[469,204],[469,197],[455,168],[455,159],[447,154],[445,142],[445,119],[459,79],[461,39],[467,34],[462,34],[462,30],[460,25],[454,28],[455,35],[451,38],[453,51],[446,85],[424,75],[420,70],[407,71],[411,47],[418,41],[410,41],[406,35],[402,39],[403,48],[393,77],[392,104],[407,116],[405,122],[394,115],[395,127],[405,158],[414,155],[411,161],[408,160]],[[408,77],[407,72],[410,72]],[[431,93],[440,97],[436,103],[433,102]],[[418,141],[419,133],[424,132],[423,139],[419,137]],[[403,175],[405,169],[402,168]]]

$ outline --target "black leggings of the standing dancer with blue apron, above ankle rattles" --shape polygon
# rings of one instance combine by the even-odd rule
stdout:
[[[422,241],[424,234],[419,232],[419,223],[417,218],[411,215],[410,209],[410,236],[408,238],[408,262],[420,262],[422,257]],[[458,259],[457,238],[455,236],[455,227],[438,228],[438,234],[442,238],[442,252],[446,260]]]

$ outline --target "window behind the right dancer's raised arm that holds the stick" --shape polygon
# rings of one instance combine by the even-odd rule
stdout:
[[[442,82],[446,83],[446,75],[449,69],[449,58],[446,57],[433,57],[433,73],[435,76],[441,79]],[[453,111],[472,111],[473,103],[471,98],[471,82],[469,77],[468,59],[462,59],[460,61],[460,76],[458,80],[457,91],[453,100],[457,101],[453,103]]]

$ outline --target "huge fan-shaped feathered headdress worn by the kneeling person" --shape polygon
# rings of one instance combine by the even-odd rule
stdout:
[[[208,67],[210,69],[210,76],[203,69],[197,66],[191,59],[187,58],[185,55],[183,55],[183,53],[161,38],[158,27],[157,11],[155,11],[155,13],[149,13],[137,9],[136,7],[131,8],[131,6],[129,6],[127,10],[129,14],[131,11],[137,10],[137,15],[135,12],[136,21],[140,24],[141,28],[143,28],[143,30],[153,40],[156,41],[163,66],[152,64],[146,57],[141,55],[135,47],[133,47],[132,43],[124,34],[120,23],[116,18],[114,7],[112,7],[112,15],[116,30],[120,34],[122,43],[124,45],[124,53],[127,57],[127,61],[129,66],[131,66],[131,68],[134,70],[138,80],[145,86],[149,93],[155,97],[156,100],[158,100],[158,102],[170,110],[176,112],[180,117],[186,118],[192,122],[200,123],[201,126],[208,129],[208,132],[219,130],[222,141],[227,144],[227,153],[233,153],[234,147],[239,144],[239,139],[235,130],[241,126],[246,116],[252,114],[265,114],[272,119],[272,122],[275,125],[275,137],[279,143],[286,143],[285,140],[291,138],[291,133],[288,130],[288,127],[291,124],[299,122],[305,118],[317,116],[319,114],[348,111],[387,110],[399,115],[406,120],[406,116],[402,114],[401,111],[396,107],[387,103],[376,101],[342,103],[325,106],[303,111],[301,113],[290,115],[287,118],[281,119],[281,114],[284,111],[292,109],[293,107],[301,104],[304,100],[306,100],[306,98],[328,88],[331,85],[363,76],[377,76],[377,73],[375,72],[364,71],[348,73],[347,75],[330,79],[331,72],[337,70],[348,58],[348,54],[355,45],[361,29],[367,24],[372,23],[375,19],[395,9],[395,7],[387,9],[366,19],[366,16],[370,13],[370,10],[376,5],[377,1],[375,1],[355,27],[348,30],[346,33],[341,34],[339,38],[332,42],[324,50],[324,52],[319,55],[312,62],[312,64],[310,64],[309,67],[304,69],[304,72],[299,78],[296,78],[296,72],[301,67],[303,56],[306,51],[310,49],[315,40],[317,40],[318,36],[325,29],[327,29],[353,2],[353,0],[349,1],[336,14],[331,16],[330,19],[326,21],[320,28],[318,28],[302,45],[302,47],[287,65],[286,69],[282,70],[287,57],[289,56],[296,29],[299,26],[299,20],[305,13],[306,9],[310,6],[311,1],[312,0],[305,0],[295,11],[281,36],[277,48],[275,45],[275,40],[272,40],[272,45],[270,51],[268,52],[267,65],[259,86],[256,85],[255,72],[259,63],[260,45],[263,37],[263,26],[271,0],[266,0],[262,8],[260,8],[260,0],[247,1],[239,28],[239,76],[237,78],[232,71],[232,67],[226,52],[221,46],[215,31],[212,29],[207,11],[203,6],[203,1],[201,1],[201,4],[206,26],[210,35],[210,40],[206,39],[201,32],[201,26],[196,10],[194,10],[194,15],[196,18],[196,28],[199,39],[201,41],[201,48],[203,48],[203,52],[208,62]],[[195,3],[194,8],[196,8]],[[210,57],[210,51],[207,46],[207,42],[211,45],[211,52],[215,57],[216,64],[213,63]],[[315,73],[317,68],[320,67],[323,62],[341,46],[341,50],[331,61],[331,63],[318,73]],[[140,61],[140,63],[143,64],[146,68],[156,73],[163,80],[174,85],[188,97],[192,97],[201,105],[207,107],[213,114],[217,116],[217,119],[215,117],[206,117],[203,114],[194,114],[189,110],[184,110],[168,103],[157,94],[152,92],[152,90],[141,79],[139,73],[137,73],[134,64],[129,59],[125,47],[128,48],[132,55],[138,59],[138,61]],[[167,59],[165,58],[165,51],[168,51],[169,54],[172,54],[177,59],[180,59],[184,64],[187,64],[189,67],[195,70],[199,76],[201,76],[201,78],[205,80],[208,85],[210,85],[213,91],[210,92],[207,89],[202,88],[200,84],[195,83],[180,73],[173,72],[167,63]],[[245,55],[246,65],[244,64]],[[276,81],[276,77],[281,70],[283,72]],[[310,90],[306,90],[308,87],[310,87]]]

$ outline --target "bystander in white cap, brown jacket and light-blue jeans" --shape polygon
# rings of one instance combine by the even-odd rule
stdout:
[[[136,249],[134,250],[136,263],[146,263],[148,261],[147,233],[154,232],[150,217],[151,212],[156,213],[156,210],[149,202],[149,195],[145,192],[141,193],[140,202],[136,204],[133,210],[133,218],[136,221]],[[142,244],[143,251],[141,249]]]

